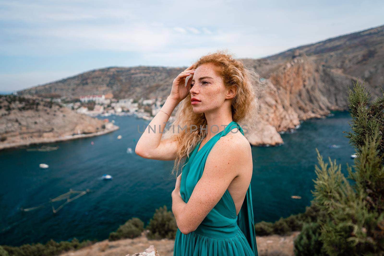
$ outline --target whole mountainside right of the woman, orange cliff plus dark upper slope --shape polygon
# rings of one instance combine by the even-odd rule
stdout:
[[[372,100],[384,88],[384,26],[293,48],[262,59],[243,59],[266,78],[259,131],[253,145],[283,143],[279,132],[331,110],[348,109],[348,88],[359,77]]]

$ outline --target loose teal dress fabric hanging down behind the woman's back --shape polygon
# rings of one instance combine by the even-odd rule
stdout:
[[[255,256],[258,256],[255,223],[253,220],[251,185],[249,185],[248,187],[247,193],[245,194],[243,205],[240,208],[239,214],[237,215],[237,225],[239,226],[240,230],[243,232],[245,238],[247,238],[247,241],[251,246]]]

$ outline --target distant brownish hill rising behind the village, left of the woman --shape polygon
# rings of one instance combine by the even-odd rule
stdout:
[[[18,91],[19,95],[76,99],[88,94],[112,93],[115,99],[165,97],[175,77],[185,68],[110,67],[88,71],[53,83]]]

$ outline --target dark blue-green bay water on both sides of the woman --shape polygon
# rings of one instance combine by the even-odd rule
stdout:
[[[275,221],[305,211],[316,178],[317,147],[324,161],[336,159],[346,174],[353,165],[354,148],[349,112],[334,112],[326,119],[310,119],[292,134],[283,134],[280,147],[252,147],[252,197],[255,221]],[[104,119],[105,117],[99,117]],[[19,246],[83,239],[107,239],[109,233],[132,217],[148,223],[156,208],[171,209],[175,179],[172,161],[143,159],[134,153],[140,131],[149,121],[132,116],[110,116],[119,130],[98,137],[53,144],[50,152],[7,149],[0,151],[0,244]],[[118,140],[118,135],[122,139]],[[94,145],[91,145],[94,142]],[[329,149],[336,144],[339,148]],[[41,145],[32,145],[35,148]],[[132,148],[132,154],[127,148]],[[39,164],[49,165],[48,169]],[[110,174],[113,180],[101,180]],[[48,201],[72,188],[91,192],[53,213]],[[299,195],[301,199],[292,199]],[[73,196],[72,196],[73,197]],[[45,208],[23,212],[45,204]],[[58,207],[60,202],[55,204]]]

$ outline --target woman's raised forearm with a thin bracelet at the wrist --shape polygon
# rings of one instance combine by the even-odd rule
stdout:
[[[161,110],[170,116],[177,104],[179,104],[179,102],[174,101],[168,96],[166,102],[161,107]],[[164,132],[164,128],[169,119],[169,116],[162,111],[159,111],[156,114],[144,130],[140,139],[137,141],[136,151],[142,150],[148,152],[149,150],[156,149],[159,146],[162,133]]]

